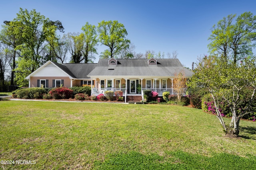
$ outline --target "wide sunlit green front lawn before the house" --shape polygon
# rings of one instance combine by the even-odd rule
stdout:
[[[256,122],[240,125],[229,138],[216,116],[190,107],[1,101],[0,160],[15,162],[0,168],[255,169]]]

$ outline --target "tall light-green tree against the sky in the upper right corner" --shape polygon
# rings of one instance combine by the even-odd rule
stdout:
[[[212,41],[208,48],[212,55],[220,55],[224,61],[233,63],[252,55],[252,48],[256,40],[256,16],[251,12],[244,12],[234,20],[236,15],[218,21],[212,28]]]

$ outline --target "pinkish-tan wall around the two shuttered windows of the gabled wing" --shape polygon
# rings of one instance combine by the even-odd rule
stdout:
[[[64,85],[66,87],[70,87],[70,78],[69,77],[36,77],[32,76],[30,77],[30,87],[37,87],[37,80],[48,80],[48,87],[52,88],[52,80],[64,80]]]

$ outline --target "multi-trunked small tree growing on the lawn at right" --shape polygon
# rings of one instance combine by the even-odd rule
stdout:
[[[224,62],[223,59],[216,56],[205,56],[199,60],[194,72],[188,86],[206,88],[212,96],[217,117],[224,131],[238,136],[240,119],[250,113],[256,91],[256,58],[248,57],[240,64],[234,64],[233,62]],[[244,91],[248,89],[250,89],[250,97],[246,107],[241,110],[239,104],[244,98]],[[226,125],[220,113],[219,101],[221,100],[226,102],[232,112],[229,125]]]

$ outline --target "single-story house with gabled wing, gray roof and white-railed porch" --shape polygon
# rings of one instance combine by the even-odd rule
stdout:
[[[143,90],[175,94],[173,79],[182,72],[186,78],[193,72],[178,59],[100,59],[96,63],[58,64],[48,61],[26,77],[29,87],[66,87],[90,85],[91,95],[105,91],[122,91],[125,96],[142,96]],[[184,88],[184,93],[186,89]]]

